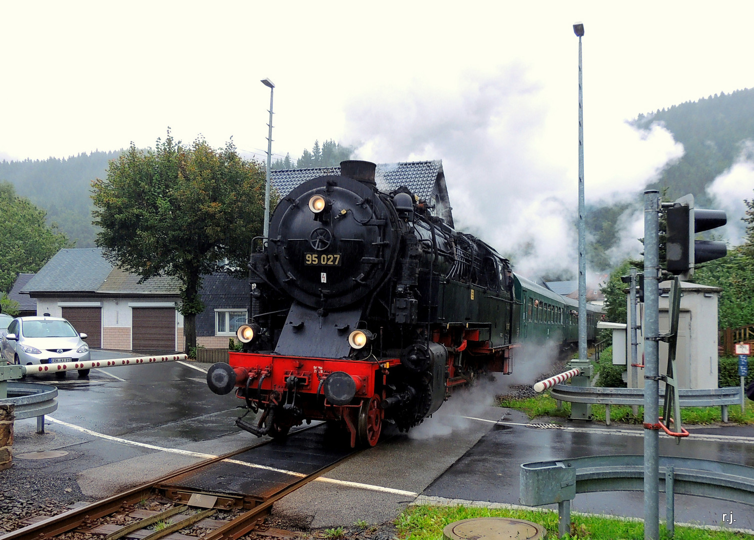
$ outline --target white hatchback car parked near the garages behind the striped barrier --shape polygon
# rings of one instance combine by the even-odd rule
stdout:
[[[86,362],[90,359],[87,334],[78,334],[71,323],[57,317],[17,317],[2,338],[2,355],[14,364],[37,365]],[[81,377],[88,369],[78,370]],[[59,378],[66,371],[55,371]]]

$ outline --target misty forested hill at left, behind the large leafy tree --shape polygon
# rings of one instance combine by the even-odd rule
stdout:
[[[57,223],[77,248],[94,246],[97,231],[91,224],[90,185],[105,178],[115,152],[92,152],[68,159],[0,162],[0,180],[11,182],[20,197],[47,211],[48,223]]]

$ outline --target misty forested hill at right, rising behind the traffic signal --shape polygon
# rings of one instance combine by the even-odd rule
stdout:
[[[712,201],[706,186],[739,157],[742,142],[754,141],[754,89],[715,94],[639,115],[636,125],[648,127],[655,121],[664,123],[673,138],[682,143],[684,154],[650,187],[668,188],[671,200],[694,194],[697,206],[709,208]]]

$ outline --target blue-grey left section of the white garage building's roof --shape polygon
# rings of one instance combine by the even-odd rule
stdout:
[[[61,249],[48,261],[22,292],[92,292],[100,288],[112,270],[102,249]]]

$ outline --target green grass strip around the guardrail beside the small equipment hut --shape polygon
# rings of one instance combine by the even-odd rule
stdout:
[[[530,419],[538,416],[561,416],[567,418],[571,414],[571,404],[563,402],[560,409],[557,402],[550,397],[550,392],[542,392],[535,398],[527,399],[501,399],[498,400],[501,407],[521,410]],[[662,414],[662,407],[660,407]],[[631,407],[611,405],[610,422],[622,422],[629,424],[641,424],[644,420],[644,407],[639,407],[639,414],[633,415]],[[592,419],[596,422],[605,422],[605,405],[592,405]],[[684,425],[709,425],[722,422],[720,407],[683,407],[681,420]],[[737,424],[754,424],[754,401],[747,401],[746,410],[742,414],[740,405],[728,406],[728,422]]]

